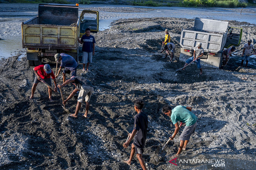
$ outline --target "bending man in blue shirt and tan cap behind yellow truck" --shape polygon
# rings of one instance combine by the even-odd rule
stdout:
[[[61,68],[64,67],[64,70],[62,72],[63,75],[63,83],[66,81],[66,73],[67,74],[72,74],[72,76],[76,76],[76,67],[77,67],[77,62],[76,60],[68,54],[65,53],[57,53],[54,55],[55,61],[61,61],[60,64],[60,69],[56,75],[56,77],[59,76]]]

